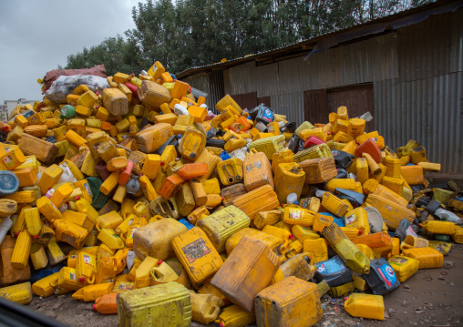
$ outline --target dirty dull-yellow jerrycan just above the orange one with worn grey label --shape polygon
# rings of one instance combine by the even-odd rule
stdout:
[[[221,253],[228,238],[238,230],[249,227],[250,223],[251,220],[241,209],[228,206],[198,221],[197,226],[204,230],[215,249]]]

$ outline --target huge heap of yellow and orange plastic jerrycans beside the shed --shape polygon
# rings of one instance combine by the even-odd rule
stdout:
[[[327,293],[383,320],[385,294],[463,242],[463,198],[429,184],[426,148],[388,148],[346,107],[296,126],[230,95],[214,113],[159,62],[107,79],[10,115],[11,301],[72,293],[120,326],[312,326]]]

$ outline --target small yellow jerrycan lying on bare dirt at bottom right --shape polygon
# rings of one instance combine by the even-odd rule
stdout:
[[[382,295],[353,293],[346,298],[344,308],[354,317],[384,320],[385,302]]]

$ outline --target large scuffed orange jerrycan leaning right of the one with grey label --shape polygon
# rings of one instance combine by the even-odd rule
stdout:
[[[211,285],[251,312],[254,297],[272,281],[279,262],[265,243],[245,236],[212,278]]]

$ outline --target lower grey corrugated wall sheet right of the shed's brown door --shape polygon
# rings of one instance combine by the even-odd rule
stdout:
[[[374,84],[375,126],[391,148],[416,139],[442,172],[463,171],[463,73]]]

